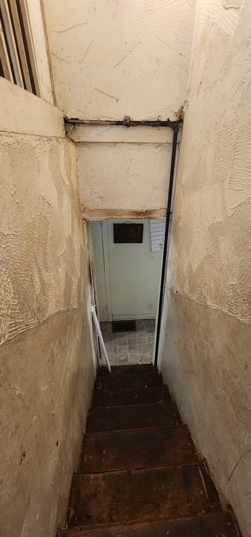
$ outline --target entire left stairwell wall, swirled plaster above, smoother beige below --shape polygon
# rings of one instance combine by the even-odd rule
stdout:
[[[3,79],[0,92],[13,100],[0,126],[0,534],[54,537],[93,387],[76,149],[53,106]]]

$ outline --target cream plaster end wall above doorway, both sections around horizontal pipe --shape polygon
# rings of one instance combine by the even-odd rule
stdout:
[[[76,0],[72,9],[67,0],[43,0],[57,106],[68,118],[85,120],[178,119],[194,4]],[[108,127],[105,134],[86,127],[87,137],[87,129],[91,143],[82,141],[82,126],[70,134],[78,142],[83,217],[165,216],[171,145],[162,143],[162,132]]]

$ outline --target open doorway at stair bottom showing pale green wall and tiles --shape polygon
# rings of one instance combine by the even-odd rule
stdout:
[[[134,233],[136,227],[141,229],[142,236]],[[126,235],[123,235],[124,229]],[[97,310],[110,365],[150,363],[165,220],[91,221],[90,231]],[[114,331],[113,324],[122,321],[128,324],[129,330]]]

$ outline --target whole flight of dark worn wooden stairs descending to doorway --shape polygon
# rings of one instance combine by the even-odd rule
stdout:
[[[157,369],[101,367],[58,537],[237,535]]]

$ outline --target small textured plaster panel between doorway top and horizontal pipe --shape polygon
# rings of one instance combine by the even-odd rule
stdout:
[[[107,209],[165,215],[171,151],[169,143],[77,143],[83,216]]]

